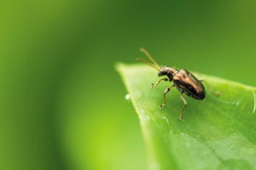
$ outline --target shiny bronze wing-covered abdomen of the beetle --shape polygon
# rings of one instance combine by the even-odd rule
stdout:
[[[205,99],[206,92],[203,84],[189,71],[180,70],[173,75],[173,82],[180,92],[194,99]]]

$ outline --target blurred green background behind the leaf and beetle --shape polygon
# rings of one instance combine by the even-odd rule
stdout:
[[[1,1],[0,169],[147,169],[114,64],[145,58],[143,47],[162,65],[256,86],[255,8],[250,0]]]

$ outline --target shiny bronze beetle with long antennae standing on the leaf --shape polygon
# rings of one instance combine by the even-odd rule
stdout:
[[[138,59],[146,63],[147,65],[152,66],[154,69],[159,71],[158,77],[166,76],[165,78],[161,78],[158,82],[150,85],[151,88],[155,88],[161,81],[173,82],[172,86],[166,88],[164,92],[164,103],[160,105],[160,109],[163,109],[166,105],[166,94],[170,91],[171,88],[176,87],[180,92],[180,97],[183,101],[183,108],[179,111],[179,119],[183,122],[183,111],[187,107],[188,103],[184,98],[183,94],[188,95],[191,98],[202,100],[206,98],[206,90],[204,85],[202,84],[203,80],[197,79],[191,72],[185,69],[176,69],[175,67],[168,67],[158,65],[147,50],[144,48],[140,48],[140,50],[147,55],[148,59],[150,59],[153,63],[149,63],[145,59]],[[207,84],[207,83],[206,83]],[[208,85],[207,85],[208,86]],[[210,88],[212,91],[212,88]],[[218,94],[218,93],[216,93]]]

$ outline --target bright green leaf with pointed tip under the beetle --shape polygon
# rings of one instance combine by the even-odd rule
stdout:
[[[206,86],[204,100],[185,96],[188,106],[181,122],[183,102],[177,89],[171,88],[166,107],[159,108],[172,83],[150,88],[160,78],[148,65],[116,68],[141,122],[149,169],[256,169],[256,88],[193,72],[221,94]]]

